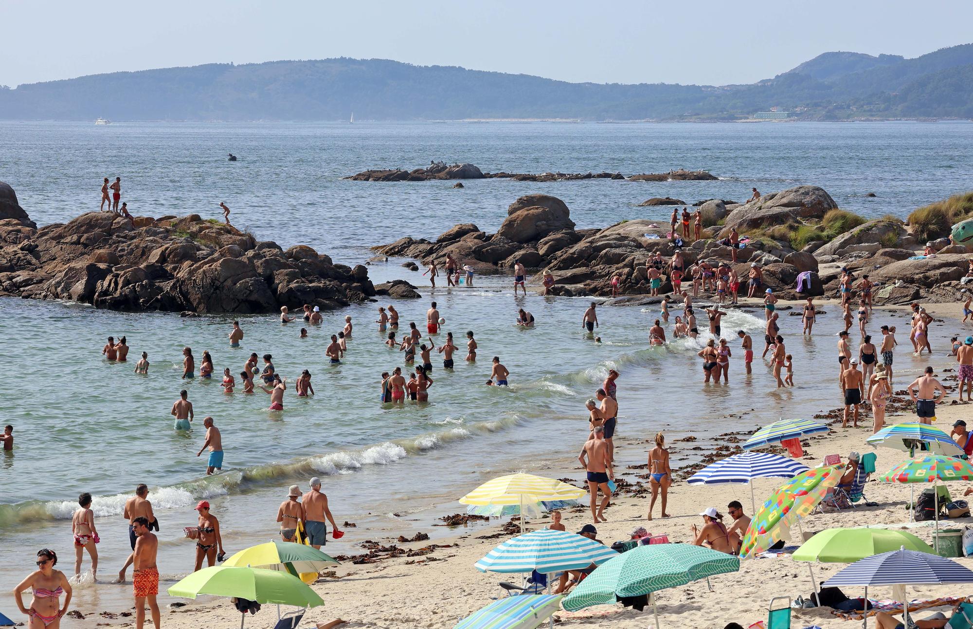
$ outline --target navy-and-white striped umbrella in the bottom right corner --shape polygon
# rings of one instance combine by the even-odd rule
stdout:
[[[918,550],[892,550],[860,559],[824,582],[825,586],[864,585],[865,597],[872,585],[928,585],[973,583],[973,571],[952,559]],[[909,601],[903,600],[903,619]],[[908,621],[905,622],[908,627]]]

